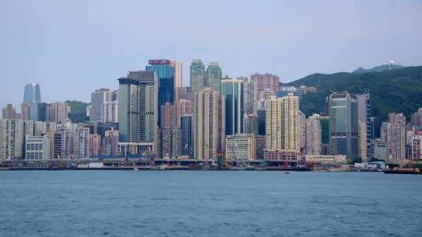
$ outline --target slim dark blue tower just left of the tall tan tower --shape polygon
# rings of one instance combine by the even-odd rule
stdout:
[[[194,156],[193,114],[180,116],[180,155]]]

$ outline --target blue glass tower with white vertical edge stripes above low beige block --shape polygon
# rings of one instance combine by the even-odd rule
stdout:
[[[226,134],[243,132],[244,84],[242,80],[222,80],[221,94],[226,97]]]

